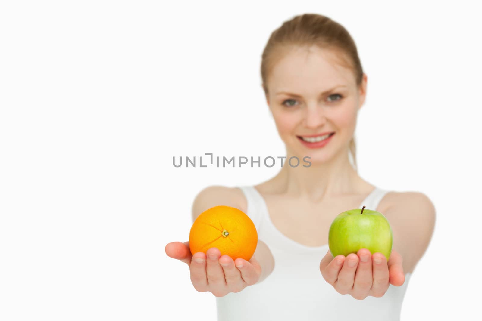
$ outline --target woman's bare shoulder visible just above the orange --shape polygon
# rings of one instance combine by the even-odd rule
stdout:
[[[205,210],[217,206],[228,205],[246,212],[247,202],[243,192],[237,187],[212,185],[202,189],[192,203],[193,221]]]

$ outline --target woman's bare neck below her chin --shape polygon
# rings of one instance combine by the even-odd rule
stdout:
[[[331,197],[356,193],[361,185],[360,176],[350,164],[348,149],[325,163],[311,162],[310,167],[303,167],[307,163],[299,156],[300,165],[291,167],[288,160],[292,156],[296,155],[287,153],[281,171],[274,178],[281,193],[320,202]]]

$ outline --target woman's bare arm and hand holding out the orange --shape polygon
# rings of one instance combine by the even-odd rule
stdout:
[[[210,186],[198,193],[193,202],[193,222],[202,212],[216,205],[236,207],[246,213],[246,200],[239,189]],[[240,292],[246,286],[259,283],[274,269],[271,251],[261,240],[258,240],[249,261],[238,258],[235,262],[228,255],[220,256],[217,248],[208,249],[207,257],[202,252],[192,256],[189,242],[171,242],[166,245],[165,251],[169,257],[179,259],[189,266],[191,282],[197,291],[209,291],[218,297]],[[214,259],[210,255],[214,255]],[[242,267],[238,267],[240,263]]]

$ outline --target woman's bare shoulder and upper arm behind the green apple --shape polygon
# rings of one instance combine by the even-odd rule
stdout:
[[[383,214],[392,227],[393,248],[402,255],[404,272],[412,272],[432,238],[436,218],[435,206],[424,193],[388,194],[389,202]]]

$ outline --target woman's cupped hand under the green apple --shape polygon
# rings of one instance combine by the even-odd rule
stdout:
[[[333,285],[336,292],[349,294],[357,300],[371,295],[385,295],[390,284],[401,286],[405,282],[402,256],[392,250],[387,262],[385,256],[366,248],[347,257],[333,257],[330,250],[321,259],[320,271],[323,279]]]

